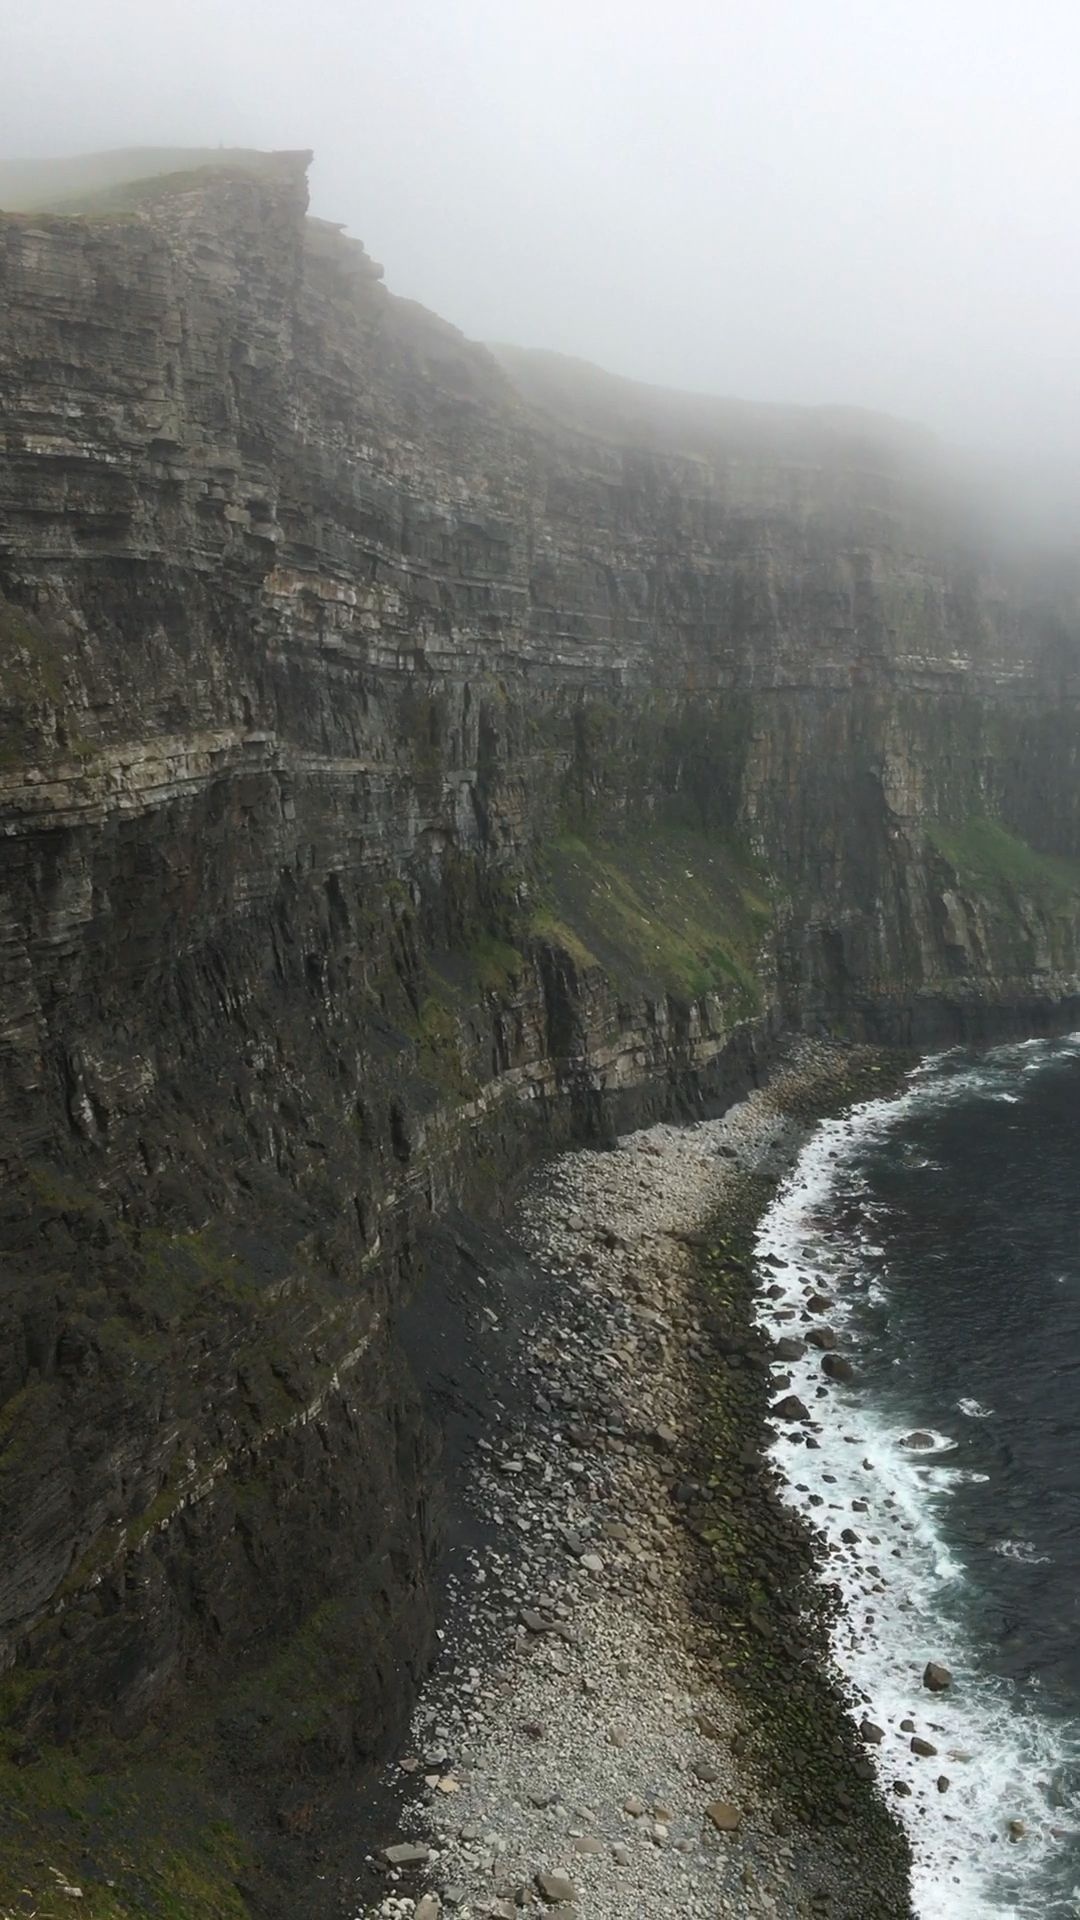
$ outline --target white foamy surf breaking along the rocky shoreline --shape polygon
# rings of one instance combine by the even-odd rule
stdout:
[[[863,1167],[869,1152],[894,1150],[911,1177],[944,1177],[940,1160],[905,1137],[913,1116],[955,1102],[1015,1108],[1019,1087],[1078,1052],[1072,1037],[926,1062],[897,1098],[817,1129],[757,1233],[761,1325],[776,1338],[817,1329],[824,1342],[828,1329],[855,1369],[853,1384],[834,1384],[813,1344],[776,1367],[811,1427],[778,1423],[773,1453],[786,1498],[824,1536],[821,1576],[844,1596],[834,1655],[855,1718],[882,1730],[869,1751],[911,1836],[922,1920],[1080,1910],[1061,1882],[1072,1740],[1040,1711],[1038,1676],[1020,1688],[980,1657],[969,1567],[947,1519],[957,1490],[986,1478],[963,1461],[959,1434],[994,1413],[961,1394],[953,1430],[942,1423],[913,1434],[903,1417],[909,1356],[890,1329],[888,1208]],[[1038,1557],[1028,1540],[997,1549]],[[922,1686],[928,1661],[951,1670],[945,1692]]]

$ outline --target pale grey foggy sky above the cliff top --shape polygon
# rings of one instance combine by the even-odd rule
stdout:
[[[33,0],[0,146],[311,146],[479,338],[1068,451],[1074,0]]]

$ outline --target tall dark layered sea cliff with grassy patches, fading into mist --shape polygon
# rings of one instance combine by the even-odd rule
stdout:
[[[402,1722],[427,1219],[782,1027],[1068,1016],[1076,607],[888,422],[469,344],[306,156],[0,217],[15,1885],[94,1807],[244,1912],[215,1811]]]

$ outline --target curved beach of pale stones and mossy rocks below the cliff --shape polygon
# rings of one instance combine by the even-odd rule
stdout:
[[[723,1117],[565,1154],[527,1188],[542,1284],[477,1434],[479,1524],[356,1916],[909,1920],[817,1548],[765,1457],[749,1261],[811,1129],[897,1071],[798,1043]]]

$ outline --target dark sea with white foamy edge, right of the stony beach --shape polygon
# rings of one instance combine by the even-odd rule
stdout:
[[[857,1367],[821,1398],[821,1354],[796,1361],[821,1446],[784,1432],[776,1459],[832,1544],[836,1653],[886,1732],[882,1784],[913,1789],[917,1908],[1076,1916],[1080,1037],[940,1056],[828,1121],[759,1254],[765,1325],[826,1321]],[[807,1317],[811,1288],[832,1298]],[[911,1755],[905,1716],[936,1757]]]

